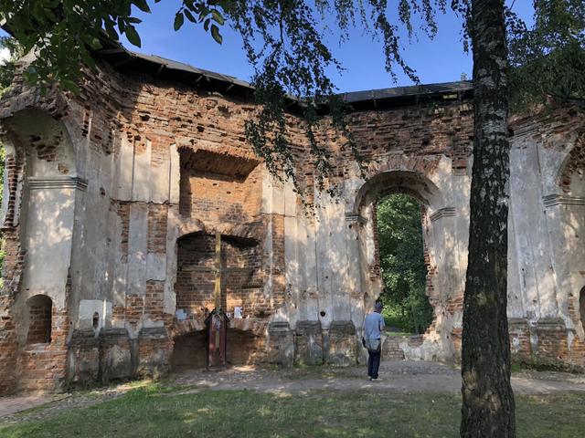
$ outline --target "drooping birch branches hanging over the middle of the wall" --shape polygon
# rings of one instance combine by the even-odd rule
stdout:
[[[401,0],[398,4],[399,25],[412,35],[412,16],[422,20],[422,30],[429,36],[437,31],[435,11],[445,12],[446,0]],[[327,75],[329,68],[341,71],[342,66],[324,45],[324,29],[319,18],[335,16],[342,40],[350,27],[361,25],[367,33],[383,42],[386,68],[392,78],[398,66],[418,82],[416,72],[402,57],[399,26],[388,21],[387,1],[315,1],[314,5],[299,0],[234,1],[224,12],[229,23],[242,36],[243,46],[254,68],[252,85],[255,98],[261,105],[257,117],[246,122],[246,134],[254,150],[266,162],[274,175],[290,178],[297,191],[302,188],[296,178],[296,162],[291,133],[286,122],[286,105],[298,99],[303,109],[305,135],[309,141],[311,165],[316,183],[325,188],[325,180],[333,169],[330,151],[315,136],[320,122],[320,108],[327,107],[331,121],[346,139],[346,147],[357,162],[361,157],[351,133],[347,130],[344,102],[335,99],[335,85]],[[282,172],[282,173],[281,173]],[[335,184],[326,190],[335,194]]]

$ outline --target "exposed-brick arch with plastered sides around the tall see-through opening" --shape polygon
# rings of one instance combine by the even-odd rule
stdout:
[[[449,301],[460,299],[461,285],[456,270],[457,250],[454,239],[457,214],[447,203],[447,193],[442,193],[431,177],[439,166],[441,157],[397,157],[389,162],[371,166],[371,175],[356,191],[352,215],[357,220],[362,290],[366,292],[364,306],[370,308],[382,292],[382,280],[378,269],[378,230],[376,206],[378,200],[391,193],[405,193],[417,199],[421,205],[423,229],[423,255],[427,266],[427,295],[434,312],[431,327],[424,335],[429,349],[442,351],[444,359],[453,351],[452,315]],[[352,224],[353,226],[353,224]],[[463,300],[462,300],[463,301]]]

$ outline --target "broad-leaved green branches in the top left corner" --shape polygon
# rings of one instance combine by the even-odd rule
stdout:
[[[180,16],[192,17],[206,28],[211,19],[223,24],[212,5],[222,3],[226,2],[184,0]],[[24,72],[29,83],[43,90],[58,84],[77,91],[80,64],[95,67],[91,50],[101,48],[103,32],[114,40],[126,36],[134,46],[141,46],[136,10],[151,12],[146,0],[0,0],[0,24],[10,29],[25,52],[36,51],[36,59]],[[210,32],[220,42],[218,26],[211,26]]]

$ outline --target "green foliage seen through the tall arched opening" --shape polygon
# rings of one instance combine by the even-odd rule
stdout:
[[[420,203],[407,194],[378,202],[384,316],[391,327],[410,333],[424,333],[432,322],[420,218]]]

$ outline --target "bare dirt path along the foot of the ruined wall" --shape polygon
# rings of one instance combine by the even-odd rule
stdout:
[[[460,370],[435,362],[394,361],[382,362],[380,378],[368,381],[365,367],[327,368],[310,367],[293,370],[254,367],[233,367],[218,372],[191,370],[173,374],[165,381],[176,391],[166,395],[178,395],[198,391],[250,390],[272,393],[308,394],[311,391],[400,391],[442,392],[461,391]],[[514,391],[519,394],[552,394],[569,391],[585,392],[585,376],[562,372],[523,371],[512,377]],[[112,400],[131,391],[136,384],[121,384],[96,391],[80,391],[62,394],[57,401],[42,406],[28,404],[24,409],[32,411],[8,412],[0,422],[30,422],[55,415],[58,412],[90,406]],[[16,398],[0,398],[2,406],[10,405]],[[14,411],[14,410],[11,410]]]

